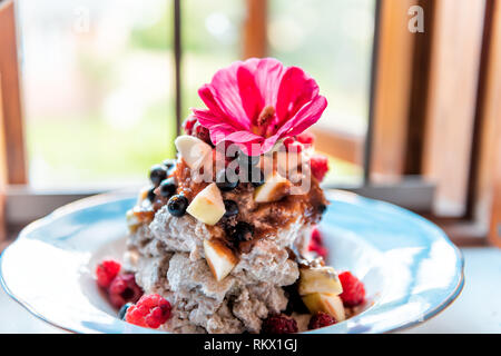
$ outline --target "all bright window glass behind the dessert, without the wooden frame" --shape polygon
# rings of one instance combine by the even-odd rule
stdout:
[[[173,155],[171,4],[52,0],[40,10],[33,0],[19,2],[32,187],[139,182],[149,166]],[[242,57],[246,3],[186,0],[180,8],[184,119],[203,106],[197,89]],[[373,28],[374,0],[268,4],[268,55],[318,80],[331,102],[320,127],[358,141],[367,129]],[[336,174],[327,181],[361,182],[362,157],[332,159]]]

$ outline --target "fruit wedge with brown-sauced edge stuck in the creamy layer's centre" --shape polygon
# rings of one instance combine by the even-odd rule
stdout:
[[[238,263],[233,251],[218,240],[204,240],[205,259],[218,281],[223,280]]]

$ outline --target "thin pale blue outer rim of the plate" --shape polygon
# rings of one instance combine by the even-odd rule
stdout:
[[[397,330],[411,328],[415,325],[419,325],[423,322],[429,320],[430,318],[436,316],[442,310],[444,310],[449,305],[451,305],[458,298],[458,296],[461,294],[463,286],[464,286],[464,259],[463,259],[461,251],[449,240],[446,235],[438,226],[435,226],[433,222],[422,218],[421,216],[419,216],[412,211],[409,211],[406,209],[403,209],[401,207],[394,206],[389,202],[364,198],[364,197],[357,196],[355,194],[341,191],[341,190],[328,190],[328,191],[326,191],[326,195],[328,197],[328,200],[332,202],[332,205],[327,209],[327,212],[325,214],[324,220],[322,224],[325,224],[325,221],[328,219],[328,217],[331,215],[332,215],[332,219],[331,219],[332,221],[330,224],[340,222],[340,221],[336,221],[336,219],[335,219],[336,211],[333,211],[333,208],[332,208],[333,206],[336,206],[340,202],[342,205],[345,205],[345,207],[348,206],[350,208],[354,208],[355,210],[353,210],[353,211],[356,211],[357,209],[363,207],[364,209],[370,209],[370,210],[374,209],[379,214],[385,212],[385,214],[396,215],[399,218],[407,220],[406,222],[414,221],[418,226],[425,227],[424,230],[426,230],[430,234],[430,237],[433,237],[435,240],[440,240],[440,243],[445,244],[455,256],[455,274],[452,277],[452,279],[454,279],[454,280],[446,288],[446,295],[442,296],[440,301],[435,300],[435,303],[431,307],[429,307],[424,313],[422,313],[419,317],[409,318],[407,320],[400,320],[399,323],[395,322],[393,325],[390,325],[390,326],[385,327],[384,329],[371,329],[370,326],[367,327],[367,325],[363,325],[363,323],[361,324],[358,319],[361,317],[371,316],[371,313],[374,313],[374,310],[377,312],[377,308],[376,308],[377,303],[376,303],[375,306],[363,312],[361,315],[355,315],[354,317],[347,319],[346,322],[351,323],[350,326],[346,326],[347,325],[346,322],[343,322],[343,323],[338,323],[331,327],[325,327],[322,329],[307,332],[306,334],[310,334],[310,333],[330,334],[330,333],[340,333],[340,332],[341,333],[347,332],[347,333],[353,333],[353,334],[397,332]],[[33,316],[36,316],[37,318],[39,318],[52,326],[56,326],[62,330],[67,330],[67,332],[71,332],[71,333],[89,333],[89,332],[90,333],[140,333],[140,334],[161,333],[161,332],[147,329],[147,328],[127,324],[125,322],[119,320],[116,317],[111,317],[110,315],[108,315],[108,316],[110,318],[112,318],[114,320],[111,322],[111,324],[107,325],[106,327],[100,327],[100,324],[96,324],[96,325],[90,324],[91,326],[81,326],[81,327],[65,326],[63,323],[55,322],[50,318],[50,316],[43,315],[42,313],[40,313],[37,309],[36,306],[32,306],[31,303],[27,301],[24,298],[22,298],[18,294],[16,294],[14,290],[11,290],[11,288],[8,285],[8,281],[6,280],[6,276],[3,275],[3,263],[6,259],[4,256],[7,254],[9,254],[10,250],[16,248],[14,246],[17,246],[20,240],[29,239],[29,235],[32,231],[36,231],[37,229],[39,229],[41,227],[48,226],[51,222],[57,221],[59,218],[63,218],[69,215],[76,215],[76,214],[79,214],[89,208],[96,208],[96,207],[104,206],[107,204],[114,204],[114,202],[116,204],[121,200],[127,200],[127,201],[130,200],[130,202],[131,202],[135,199],[130,198],[130,195],[124,196],[124,194],[116,194],[116,192],[98,195],[98,196],[85,198],[85,199],[71,202],[69,205],[66,205],[61,208],[56,209],[52,214],[28,225],[19,234],[18,239],[16,241],[13,241],[9,247],[7,247],[0,255],[0,284],[3,287],[3,289],[6,290],[6,293],[13,300],[19,303],[22,307],[24,307],[29,313],[31,313]],[[352,211],[352,214],[353,214],[353,211]],[[347,222],[344,221],[344,222],[353,224],[353,221],[347,221]],[[350,229],[350,226],[347,226],[345,228]],[[361,233],[357,233],[357,234],[361,237],[364,236]],[[372,243],[374,243],[374,241],[372,241]],[[379,246],[379,247],[375,246],[375,247],[381,248],[381,246]],[[430,300],[426,300],[426,301],[430,301]],[[105,312],[102,312],[102,313],[106,314]],[[383,310],[382,315],[384,316],[384,310]],[[345,324],[345,327],[341,328],[341,329],[336,328],[341,324]]]

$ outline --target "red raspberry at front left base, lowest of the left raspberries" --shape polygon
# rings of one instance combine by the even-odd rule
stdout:
[[[127,323],[158,328],[170,317],[170,303],[158,294],[143,296],[136,305],[127,309]]]

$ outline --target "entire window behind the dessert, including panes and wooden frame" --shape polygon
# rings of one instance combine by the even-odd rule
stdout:
[[[327,187],[413,208],[456,241],[500,241],[495,0],[47,0],[36,10],[24,0],[17,38],[13,3],[0,2],[9,224],[91,194],[89,184],[144,180],[174,155],[176,123],[202,106],[196,90],[216,69],[274,56],[314,76],[330,101],[315,128],[334,166]],[[409,31],[415,6],[424,32]],[[68,182],[86,187],[40,189]]]

